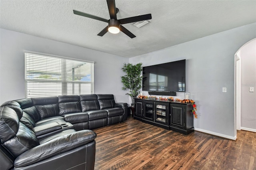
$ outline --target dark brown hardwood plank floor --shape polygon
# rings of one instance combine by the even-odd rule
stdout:
[[[95,170],[256,170],[256,133],[238,130],[237,141],[188,135],[128,117],[94,129]]]

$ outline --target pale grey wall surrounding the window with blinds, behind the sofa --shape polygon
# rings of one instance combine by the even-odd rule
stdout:
[[[128,103],[122,91],[121,71],[128,58],[0,29],[0,104],[25,97],[24,50],[95,61],[94,93],[114,94]]]

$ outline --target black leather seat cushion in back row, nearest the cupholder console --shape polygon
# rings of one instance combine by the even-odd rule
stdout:
[[[68,113],[62,115],[66,122],[70,123],[80,123],[80,122],[87,122],[88,121],[88,114],[87,113]]]

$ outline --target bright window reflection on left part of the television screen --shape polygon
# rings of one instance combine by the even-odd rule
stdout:
[[[149,90],[150,91],[165,91],[167,87],[168,77],[149,73]]]

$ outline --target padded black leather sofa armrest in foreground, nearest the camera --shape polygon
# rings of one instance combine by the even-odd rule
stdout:
[[[80,130],[54,138],[22,153],[14,161],[14,166],[20,168],[40,162],[51,156],[88,144],[95,138],[96,133],[92,130]]]

